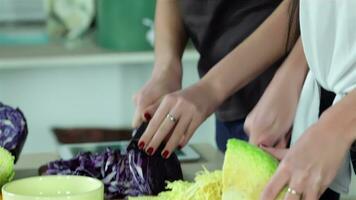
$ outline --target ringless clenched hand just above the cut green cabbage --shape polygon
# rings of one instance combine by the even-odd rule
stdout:
[[[258,104],[247,116],[244,129],[249,135],[250,143],[284,148],[290,139],[290,129],[293,123],[297,105],[297,95],[280,92],[288,90],[288,85],[270,85]]]

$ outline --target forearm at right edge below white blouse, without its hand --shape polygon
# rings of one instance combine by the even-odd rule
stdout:
[[[351,146],[356,141],[356,89],[326,110],[316,124],[322,131],[339,134]]]

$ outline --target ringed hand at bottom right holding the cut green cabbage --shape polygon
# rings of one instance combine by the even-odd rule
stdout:
[[[349,148],[350,142],[340,132],[318,125],[309,128],[288,151],[264,148],[282,162],[261,199],[274,200],[284,187],[302,194],[303,199],[319,199],[336,177]],[[285,200],[300,198],[290,193],[285,196]]]

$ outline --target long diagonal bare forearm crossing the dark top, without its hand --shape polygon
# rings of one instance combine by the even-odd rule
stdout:
[[[203,84],[208,84],[216,92],[220,102],[285,55],[290,2],[283,1],[253,34],[202,79]]]

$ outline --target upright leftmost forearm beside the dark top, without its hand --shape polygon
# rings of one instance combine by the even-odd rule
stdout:
[[[181,57],[187,43],[179,0],[157,0],[155,16],[155,64],[153,75],[169,71],[181,75]]]

